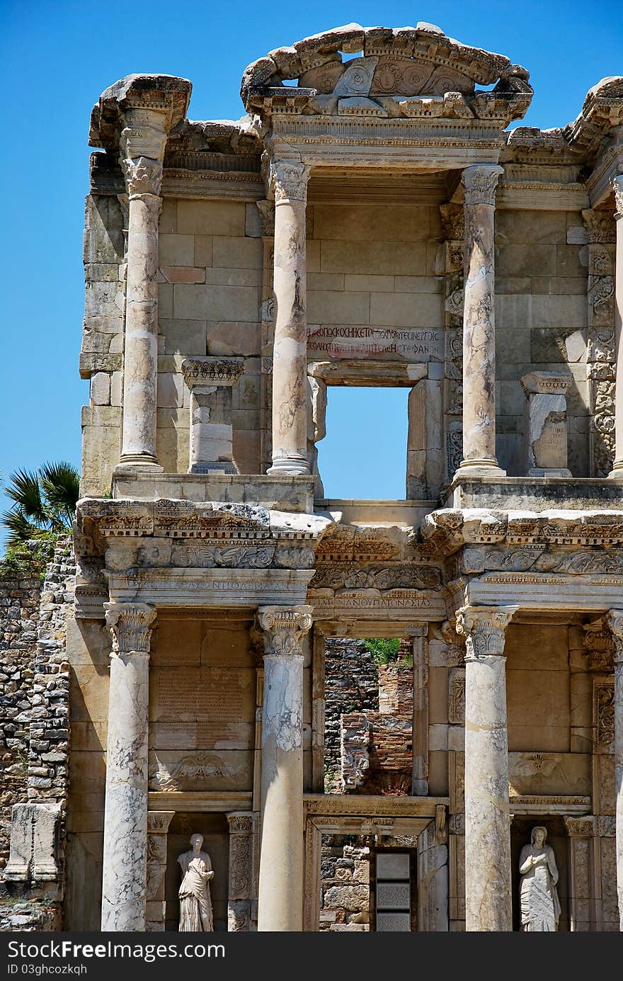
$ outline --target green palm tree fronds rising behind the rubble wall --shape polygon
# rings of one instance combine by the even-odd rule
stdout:
[[[47,538],[72,530],[79,497],[78,470],[59,460],[44,463],[36,471],[16,470],[5,493],[13,506],[2,515],[7,545],[15,547],[28,539]]]

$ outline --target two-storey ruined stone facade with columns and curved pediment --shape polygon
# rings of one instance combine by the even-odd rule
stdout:
[[[526,128],[509,58],[348,25],[250,65],[236,123],[190,87],[91,117],[75,601],[42,606],[7,887],[64,826],[66,928],[175,929],[199,832],[217,929],[350,928],[348,836],[408,854],[368,925],[517,930],[539,824],[560,929],[620,929],[623,78]],[[324,497],[333,386],[409,389],[404,500]],[[328,641],[370,637],[411,649],[402,793],[325,793]]]

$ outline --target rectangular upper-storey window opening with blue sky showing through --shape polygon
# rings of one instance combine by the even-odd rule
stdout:
[[[404,500],[410,388],[334,387],[318,442],[325,497]]]

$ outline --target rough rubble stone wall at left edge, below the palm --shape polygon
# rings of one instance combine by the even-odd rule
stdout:
[[[34,551],[39,542],[29,543]],[[0,580],[5,601],[3,638],[2,731],[3,763],[0,771],[0,931],[49,930],[61,925],[63,892],[64,814],[68,793],[69,665],[65,651],[65,621],[74,601],[76,561],[70,539],[59,539],[43,583],[29,579]],[[27,846],[29,822],[39,850],[49,849],[50,861],[40,877],[28,865],[24,877],[7,877],[11,843],[12,808],[23,812]],[[14,819],[16,814],[13,814]],[[22,833],[18,829],[18,837]],[[16,854],[22,856],[24,843]],[[43,852],[39,852],[39,855]],[[37,863],[35,854],[35,866]],[[13,861],[13,852],[12,852]],[[43,867],[43,866],[41,866]]]

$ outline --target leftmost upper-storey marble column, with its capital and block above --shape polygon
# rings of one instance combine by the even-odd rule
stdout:
[[[122,132],[128,195],[124,414],[120,469],[162,470],[156,456],[158,221],[167,116],[129,109]]]

